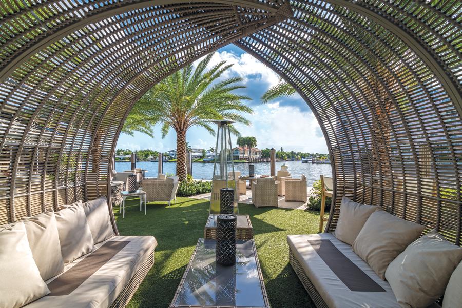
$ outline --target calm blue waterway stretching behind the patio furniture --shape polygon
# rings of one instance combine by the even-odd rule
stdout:
[[[321,174],[326,176],[332,176],[332,169],[330,164],[316,164],[316,163],[302,163],[301,161],[277,161],[276,170],[281,169],[281,165],[285,163],[288,166],[288,171],[291,173],[293,178],[300,177],[301,174],[306,176],[307,186],[313,186],[313,182],[319,179]],[[138,161],[137,168],[147,170],[146,177],[157,177],[157,162],[150,161]],[[164,173],[176,172],[175,162],[164,162]],[[235,171],[240,171],[241,174],[248,174],[248,163],[235,163]],[[123,172],[130,170],[129,161],[116,161],[115,170]],[[214,172],[213,163],[204,162],[193,162],[192,163],[192,177],[195,179],[207,179],[212,178]],[[269,175],[269,162],[255,163],[255,173],[257,174],[268,174]]]

